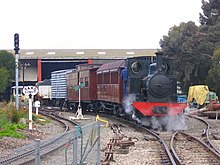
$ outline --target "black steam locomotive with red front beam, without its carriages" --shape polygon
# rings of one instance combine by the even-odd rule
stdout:
[[[177,79],[173,74],[172,59],[156,53],[156,59],[133,58],[127,61],[128,94],[135,93],[132,103],[136,115],[178,115],[186,104],[177,103]]]

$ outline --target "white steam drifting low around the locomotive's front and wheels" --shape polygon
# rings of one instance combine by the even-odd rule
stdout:
[[[135,101],[135,94],[128,95],[123,100],[123,106],[125,113],[132,116],[132,119],[135,120],[140,125],[150,127],[154,130],[167,130],[167,131],[177,131],[177,130],[186,130],[187,125],[185,123],[185,115],[169,115],[164,117],[137,117],[135,115],[134,108],[132,103]]]

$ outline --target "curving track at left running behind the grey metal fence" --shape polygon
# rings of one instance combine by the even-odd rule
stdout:
[[[72,120],[68,120],[66,118],[60,117],[59,115],[57,115],[54,112],[41,112],[41,114],[46,115],[50,118],[52,118],[53,120],[56,120],[58,122],[60,122],[63,127],[64,127],[64,131],[62,134],[54,137],[54,138],[50,138],[47,140],[42,140],[40,142],[40,156],[44,156],[54,150],[57,150],[58,148],[62,147],[63,145],[65,145],[65,143],[67,141],[69,141],[72,138],[72,133],[71,131],[69,131],[69,125],[67,124],[65,121],[68,121],[69,123],[71,123],[71,125],[78,125],[77,123],[73,122]],[[69,132],[69,136],[65,135],[64,133]],[[8,164],[25,164],[28,163],[30,161],[33,161],[35,159],[35,147],[36,144],[35,143],[31,143],[29,145],[25,145],[19,149],[16,149],[13,151],[13,153],[11,154],[11,156],[5,158],[4,160],[0,160],[0,164],[1,165],[8,165]]]

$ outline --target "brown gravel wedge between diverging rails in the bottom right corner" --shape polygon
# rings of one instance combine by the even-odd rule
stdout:
[[[171,150],[177,164],[219,164],[220,155],[210,146],[191,136],[177,131],[171,139]]]

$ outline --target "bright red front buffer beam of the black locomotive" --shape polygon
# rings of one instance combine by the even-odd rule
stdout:
[[[185,103],[158,103],[158,102],[133,102],[136,108],[144,116],[178,115],[186,107]]]

